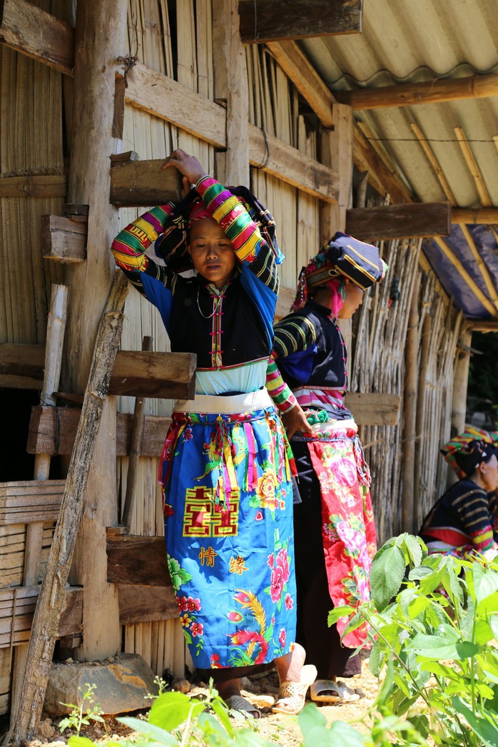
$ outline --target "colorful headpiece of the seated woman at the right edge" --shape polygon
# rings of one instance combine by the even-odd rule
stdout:
[[[441,447],[444,459],[455,470],[459,480],[472,474],[481,462],[496,453],[498,431],[468,427]]]

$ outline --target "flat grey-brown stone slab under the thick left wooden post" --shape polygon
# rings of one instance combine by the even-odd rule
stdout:
[[[71,713],[71,705],[81,706],[87,685],[96,685],[93,703],[85,701],[84,710],[99,704],[102,713],[114,715],[149,708],[149,693],[158,694],[154,672],[138,654],[116,654],[103,662],[75,662],[68,659],[52,664],[43,711],[49,716]],[[71,704],[69,707],[64,704]]]

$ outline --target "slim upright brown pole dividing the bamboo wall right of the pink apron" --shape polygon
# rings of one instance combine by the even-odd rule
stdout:
[[[414,467],[415,438],[417,438],[418,384],[418,291],[420,275],[414,278],[411,291],[410,316],[405,347],[405,425],[403,427],[403,482],[401,496],[401,531],[414,530]]]

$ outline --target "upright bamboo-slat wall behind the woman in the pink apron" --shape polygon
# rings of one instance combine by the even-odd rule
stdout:
[[[405,344],[411,294],[420,275],[418,291],[418,362],[423,381],[417,398],[418,427],[414,465],[414,533],[436,498],[446,489],[447,466],[439,447],[450,438],[452,387],[457,359],[461,314],[450,306],[432,271],[423,272],[418,259],[420,241],[391,241],[382,247],[389,265],[386,282],[370,289],[355,323],[350,391],[404,395]],[[399,301],[389,304],[390,282],[399,278]],[[430,329],[426,318],[431,320]],[[424,326],[425,324],[425,326]],[[423,360],[423,332],[429,335]],[[347,403],[347,397],[346,397]],[[396,426],[364,426],[361,441],[372,473],[372,500],[379,545],[399,534],[404,467],[402,400]]]

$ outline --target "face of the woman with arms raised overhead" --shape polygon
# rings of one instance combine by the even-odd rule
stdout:
[[[220,291],[234,274],[237,255],[214,218],[196,220],[189,229],[187,252],[199,275]]]

